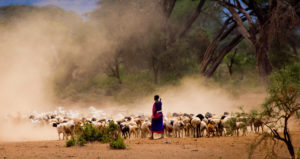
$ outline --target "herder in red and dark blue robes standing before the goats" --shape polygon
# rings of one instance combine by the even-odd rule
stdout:
[[[151,132],[152,135],[150,139],[153,138],[153,133],[161,134],[161,138],[164,138],[164,126],[163,126],[163,113],[162,113],[162,103],[158,95],[154,96],[154,104],[152,108],[152,122],[151,122]]]

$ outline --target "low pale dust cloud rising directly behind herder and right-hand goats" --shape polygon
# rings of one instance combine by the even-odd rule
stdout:
[[[165,113],[181,112],[199,114],[211,112],[221,115],[224,112],[238,111],[240,106],[250,110],[259,106],[265,99],[266,93],[245,92],[233,96],[227,90],[220,88],[216,83],[201,77],[186,77],[179,85],[166,86],[157,90]],[[147,103],[147,105],[145,105]],[[144,98],[135,105],[138,112],[151,113],[153,97]]]

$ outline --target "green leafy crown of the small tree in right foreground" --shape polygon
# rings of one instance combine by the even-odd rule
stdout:
[[[276,118],[284,112],[286,115],[299,113],[300,103],[300,65],[292,65],[274,72],[268,87],[269,98],[263,104],[263,115]]]

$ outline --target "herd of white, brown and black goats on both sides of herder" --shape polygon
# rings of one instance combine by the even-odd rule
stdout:
[[[92,111],[97,112],[95,108]],[[124,138],[146,138],[151,135],[151,117],[139,116],[118,116],[118,119],[104,117],[104,113],[94,113],[88,116],[74,115],[72,112],[62,109],[54,112],[34,113],[29,115],[31,123],[35,125],[48,125],[56,127],[58,139],[68,139],[68,136],[76,135],[76,128],[90,123],[97,129],[101,129],[114,122],[117,124],[118,132]],[[237,135],[242,132],[246,135],[249,131],[263,131],[263,122],[258,118],[249,119],[228,112],[222,115],[212,113],[187,114],[173,113],[163,117],[164,132],[166,137],[212,137]],[[28,116],[27,116],[28,119]]]

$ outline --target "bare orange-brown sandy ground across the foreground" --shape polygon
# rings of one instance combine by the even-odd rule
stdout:
[[[94,159],[243,159],[256,135],[244,137],[128,139],[126,150],[111,150],[108,144],[89,143],[84,147],[65,147],[64,141],[0,143],[0,159],[9,158],[94,158]],[[294,146],[300,147],[300,131],[292,132]],[[264,146],[265,147],[265,146]],[[253,158],[264,158],[260,147]],[[278,158],[289,158],[286,148],[276,146]]]

